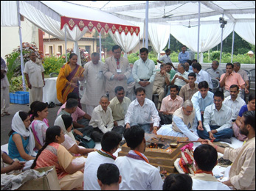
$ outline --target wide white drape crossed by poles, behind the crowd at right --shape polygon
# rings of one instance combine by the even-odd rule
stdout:
[[[223,40],[232,32],[233,23],[227,23],[224,32]],[[170,33],[179,40],[180,43],[186,45],[191,51],[197,52],[198,44],[198,27],[188,28],[182,25],[175,25],[170,28]],[[203,53],[221,43],[221,27],[220,24],[201,24],[200,26],[200,40],[199,40],[199,52]],[[201,61],[202,55],[200,54]]]

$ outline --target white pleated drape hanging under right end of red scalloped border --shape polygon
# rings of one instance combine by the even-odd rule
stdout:
[[[135,32],[133,35],[131,35],[130,32],[127,35],[125,35],[125,32],[122,32],[120,35],[118,31],[116,31],[114,34],[112,34],[112,32],[109,34],[114,40],[114,43],[122,47],[122,50],[125,52],[124,57],[126,58],[127,53],[134,49],[135,46],[139,43],[139,37],[135,34]]]

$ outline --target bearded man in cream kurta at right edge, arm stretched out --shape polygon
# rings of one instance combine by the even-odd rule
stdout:
[[[224,159],[231,160],[229,180],[223,183],[234,190],[255,190],[255,111],[244,112],[241,118],[240,131],[248,137],[241,148],[221,148],[207,140]]]

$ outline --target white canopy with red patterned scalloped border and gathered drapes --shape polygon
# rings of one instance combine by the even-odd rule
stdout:
[[[107,12],[94,10],[66,1],[19,1],[19,3],[21,15],[32,22],[32,24],[35,24],[35,26],[38,26],[39,29],[61,40],[73,41],[75,43],[74,51],[77,55],[80,54],[77,41],[80,40],[88,30],[93,28],[96,28],[98,32],[102,29],[105,29],[105,32],[112,32],[114,36],[117,37],[117,39],[119,38],[122,42],[134,42],[120,44],[125,52],[131,51],[139,42],[139,27],[133,26],[127,21]],[[10,4],[11,1],[4,1],[3,3],[1,1],[1,8],[4,9],[10,6]],[[10,10],[10,12],[17,11]],[[1,12],[1,21],[2,18],[4,18],[3,20],[7,18],[4,12]],[[66,20],[63,18],[66,18]],[[72,22],[76,20],[79,24],[72,24]],[[66,24],[61,23],[65,21],[68,22]],[[85,21],[89,21],[88,25],[85,24]],[[13,21],[9,22],[11,23]],[[77,62],[80,64],[80,57],[78,57]]]

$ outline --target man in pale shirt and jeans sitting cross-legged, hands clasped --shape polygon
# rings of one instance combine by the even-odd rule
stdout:
[[[232,110],[222,104],[224,93],[217,91],[213,97],[214,104],[208,106],[204,111],[204,130],[198,130],[198,136],[204,140],[224,141],[231,143],[233,135]]]

